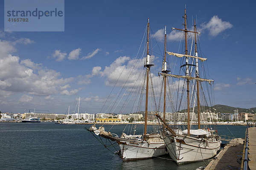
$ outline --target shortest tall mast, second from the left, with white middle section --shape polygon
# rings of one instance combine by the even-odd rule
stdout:
[[[165,34],[164,34],[164,60],[163,60],[162,73],[168,73],[167,62],[166,62],[166,26],[165,26]],[[163,120],[165,121],[165,117],[166,117],[166,76],[164,76],[163,79],[164,79]]]

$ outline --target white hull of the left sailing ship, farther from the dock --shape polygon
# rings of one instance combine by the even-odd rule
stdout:
[[[119,138],[121,139],[121,138]],[[148,159],[154,156],[161,156],[167,154],[164,142],[138,142],[134,140],[118,140],[120,147],[119,156],[123,161]]]

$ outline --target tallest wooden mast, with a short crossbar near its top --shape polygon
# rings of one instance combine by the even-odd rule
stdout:
[[[179,29],[179,28],[172,28],[172,29],[176,29],[176,30],[180,30],[180,31],[184,31],[185,32],[185,54],[188,55],[188,47],[187,47],[187,33],[188,32],[192,32],[192,33],[196,33],[196,34],[201,34],[200,32],[195,32],[195,31],[188,31],[187,30],[187,26],[186,26],[186,8],[185,8],[185,14],[184,14],[184,26],[185,29]],[[186,76],[189,76],[189,58],[186,57]],[[188,108],[188,136],[190,136],[190,117],[189,117],[189,79],[187,79],[187,108]]]

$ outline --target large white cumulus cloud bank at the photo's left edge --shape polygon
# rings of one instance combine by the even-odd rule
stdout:
[[[41,68],[41,64],[30,59],[20,61],[19,57],[12,55],[13,51],[16,49],[12,42],[0,40],[0,88],[7,95],[15,92],[38,96],[58,94],[63,91],[61,87],[73,80],[72,77],[59,78],[60,73]]]

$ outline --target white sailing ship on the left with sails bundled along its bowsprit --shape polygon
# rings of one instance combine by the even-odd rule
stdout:
[[[144,67],[146,68],[146,96],[145,96],[145,125],[144,133],[140,135],[126,135],[122,133],[119,137],[111,132],[106,132],[105,128],[96,128],[95,125],[88,129],[91,133],[95,133],[103,138],[110,139],[117,142],[119,145],[118,155],[123,161],[148,159],[154,156],[161,156],[166,154],[166,146],[163,137],[160,134],[147,133],[147,114],[148,114],[148,86],[150,77],[150,68],[153,66],[153,56],[149,54],[149,19],[147,24],[147,42],[146,42],[146,56]],[[143,88],[144,89],[144,88]]]

